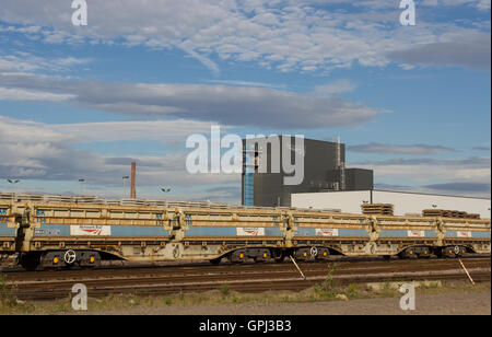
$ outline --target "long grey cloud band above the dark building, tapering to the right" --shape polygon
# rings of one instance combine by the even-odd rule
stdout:
[[[0,85],[72,95],[72,104],[113,114],[231,126],[352,126],[387,113],[339,96],[319,97],[271,88],[87,82],[1,72]]]

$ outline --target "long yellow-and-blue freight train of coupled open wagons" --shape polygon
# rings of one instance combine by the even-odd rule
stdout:
[[[363,216],[207,202],[0,199],[2,254],[32,268],[106,259],[328,259],[330,255],[440,257],[490,254],[490,220]]]

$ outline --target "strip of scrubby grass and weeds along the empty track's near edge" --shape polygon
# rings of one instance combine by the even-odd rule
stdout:
[[[89,298],[89,312],[115,311],[137,306],[157,307],[169,305],[203,305],[203,304],[269,304],[269,303],[306,303],[317,301],[338,301],[400,298],[398,291],[400,282],[386,281],[377,283],[378,287],[352,283],[339,286],[333,281],[332,275],[336,266],[328,271],[326,279],[309,289],[293,291],[269,291],[262,293],[239,293],[232,291],[229,284],[222,284],[219,290],[202,293],[176,293],[167,297],[139,297],[139,295],[108,295],[101,299]],[[0,276],[0,314],[65,314],[74,313],[71,307],[71,298],[52,302],[20,302],[13,292],[5,287]],[[437,294],[448,292],[483,292],[490,291],[490,283],[471,286],[466,282],[422,282],[417,292],[420,294]]]

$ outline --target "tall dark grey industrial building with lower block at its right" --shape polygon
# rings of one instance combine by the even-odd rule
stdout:
[[[280,149],[289,138],[280,136]],[[291,138],[288,149],[291,152],[291,163],[295,161],[295,138]],[[273,149],[276,149],[273,147]],[[366,190],[374,188],[374,173],[372,170],[347,168],[345,146],[340,142],[304,139],[304,179],[300,185],[285,185],[284,177],[292,176],[284,173],[280,165],[280,173],[272,173],[272,144],[262,139],[255,139],[253,146],[246,147],[243,141],[243,205],[247,206],[291,206],[291,194]],[[286,151],[286,150],[285,150]],[[298,152],[298,151],[297,151]],[[288,153],[288,152],[286,152]],[[280,151],[282,160],[282,151]],[[268,161],[267,173],[259,172],[262,161]]]

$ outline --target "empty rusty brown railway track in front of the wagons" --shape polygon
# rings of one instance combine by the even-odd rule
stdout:
[[[465,258],[475,281],[490,281],[489,257]],[[302,290],[325,281],[338,284],[386,280],[466,280],[457,259],[406,259],[303,263],[303,279],[292,264],[188,265],[156,268],[115,268],[38,272],[7,272],[5,284],[21,300],[67,298],[75,283],[90,297],[108,294],[167,295],[220,289],[233,291]]]

